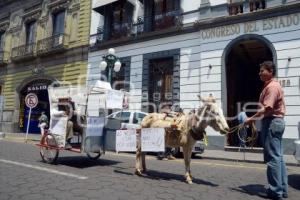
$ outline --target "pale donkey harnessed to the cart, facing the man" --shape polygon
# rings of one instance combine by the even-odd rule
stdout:
[[[215,98],[211,94],[206,98],[202,98],[200,95],[198,97],[203,102],[203,105],[195,113],[182,113],[171,120],[166,120],[165,114],[151,113],[141,123],[141,128],[165,128],[166,146],[182,147],[185,179],[189,184],[193,183],[190,169],[192,148],[196,140],[203,139],[205,128],[211,126],[221,134],[226,134],[229,131],[223,112],[217,105]],[[176,129],[174,129],[174,124],[176,124]],[[140,135],[137,138],[135,173],[142,175],[142,173],[146,172],[145,153],[141,152]]]

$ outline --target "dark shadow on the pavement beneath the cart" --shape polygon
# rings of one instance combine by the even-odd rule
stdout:
[[[98,160],[91,160],[88,157],[83,157],[83,156],[69,156],[69,157],[59,157],[57,159],[56,164],[84,169],[84,168],[95,167],[95,166],[117,165],[118,163],[121,162],[106,160],[102,158],[99,158]]]

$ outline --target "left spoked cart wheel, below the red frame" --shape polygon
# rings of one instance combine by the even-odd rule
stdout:
[[[53,164],[56,162],[59,150],[57,149],[57,142],[52,134],[45,134],[42,137],[40,148],[40,155],[44,162]]]

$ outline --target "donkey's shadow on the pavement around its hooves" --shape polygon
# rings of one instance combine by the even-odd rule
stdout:
[[[181,182],[185,182],[185,178],[183,175],[179,174],[173,174],[173,173],[168,173],[168,172],[161,172],[161,171],[155,171],[155,170],[147,170],[147,172],[141,177],[141,178],[148,178],[152,180],[177,180]],[[211,187],[218,187],[219,185],[209,182],[209,181],[204,181],[201,179],[193,178],[193,183],[194,184],[199,184],[199,185],[207,185]]]

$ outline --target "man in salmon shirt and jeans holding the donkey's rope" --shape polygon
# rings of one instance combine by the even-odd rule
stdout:
[[[285,102],[283,90],[275,80],[275,65],[265,61],[260,65],[259,77],[264,88],[259,97],[260,108],[256,114],[246,119],[245,124],[261,120],[261,138],[264,148],[264,161],[267,164],[269,188],[266,195],[270,199],[287,198],[288,182],[283,160],[282,135],[285,129]]]

